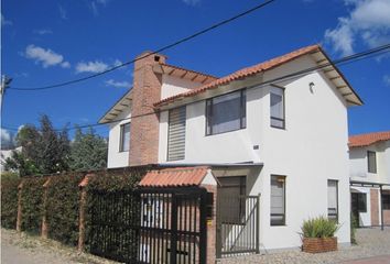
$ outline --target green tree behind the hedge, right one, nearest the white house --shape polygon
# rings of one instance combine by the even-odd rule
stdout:
[[[72,170],[90,170],[105,168],[107,165],[107,142],[89,128],[86,133],[77,128],[71,144]]]

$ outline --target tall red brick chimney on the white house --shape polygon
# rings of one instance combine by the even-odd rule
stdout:
[[[151,52],[138,56],[143,57]],[[162,75],[153,65],[165,63],[165,56],[153,54],[134,63],[132,88],[129,165],[155,164],[159,158],[159,113],[153,102],[161,98]],[[151,113],[151,114],[150,114]],[[145,116],[142,116],[145,114]],[[138,117],[141,116],[141,117]]]

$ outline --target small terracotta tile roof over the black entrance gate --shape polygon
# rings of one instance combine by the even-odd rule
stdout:
[[[198,186],[207,175],[208,167],[176,167],[151,170],[141,179],[140,187]]]

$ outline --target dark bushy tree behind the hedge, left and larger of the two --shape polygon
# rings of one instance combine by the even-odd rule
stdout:
[[[19,170],[21,176],[53,174],[68,169],[71,153],[66,129],[54,130],[50,118],[43,114],[40,129],[24,125],[17,134],[17,143],[22,146],[6,161],[6,168]]]

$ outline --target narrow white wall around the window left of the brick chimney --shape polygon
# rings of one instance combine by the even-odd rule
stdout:
[[[124,167],[129,166],[129,152],[120,152],[120,125],[129,123],[131,120],[130,108],[124,109],[116,120],[127,119],[110,123],[109,125],[109,141],[108,141],[108,161],[107,167]],[[131,135],[130,135],[131,136]]]

